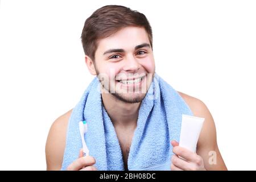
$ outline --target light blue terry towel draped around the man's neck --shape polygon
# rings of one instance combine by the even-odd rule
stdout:
[[[85,141],[98,170],[124,170],[122,151],[111,119],[102,104],[100,81],[95,77],[85,90],[69,118],[61,170],[78,158],[82,148],[79,122],[86,120]],[[182,114],[191,109],[166,81],[155,73],[150,88],[139,107],[137,128],[131,142],[129,170],[170,170],[171,140],[179,142]]]

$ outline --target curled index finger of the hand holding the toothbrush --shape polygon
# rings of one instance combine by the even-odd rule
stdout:
[[[72,164],[70,164],[67,168],[68,171],[76,171],[85,166],[92,166],[96,163],[96,160],[92,156],[83,156],[81,158],[76,159]]]

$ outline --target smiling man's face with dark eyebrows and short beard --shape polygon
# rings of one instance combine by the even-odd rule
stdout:
[[[125,27],[99,40],[94,67],[104,92],[125,102],[141,102],[155,73],[147,32]]]

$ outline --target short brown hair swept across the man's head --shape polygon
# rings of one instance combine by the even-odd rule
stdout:
[[[152,48],[152,30],[144,14],[125,6],[108,5],[94,11],[84,23],[81,39],[85,54],[94,61],[97,41],[127,26],[144,27]]]

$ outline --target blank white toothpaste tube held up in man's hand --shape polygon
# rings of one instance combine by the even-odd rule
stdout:
[[[204,118],[182,114],[179,146],[196,152],[196,144],[203,127]]]

